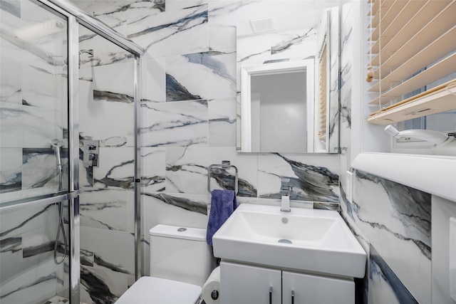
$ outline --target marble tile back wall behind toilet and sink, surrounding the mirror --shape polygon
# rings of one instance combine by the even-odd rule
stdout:
[[[304,9],[308,3],[287,5]],[[128,38],[147,49],[141,105],[145,274],[152,226],[207,226],[209,164],[237,166],[239,202],[279,205],[284,176],[293,179],[296,206],[316,201],[315,207],[338,209],[338,157],[236,152],[235,26],[276,9],[288,11],[274,1],[166,1],[165,11],[127,21]],[[212,189],[232,189],[232,174],[215,172]]]

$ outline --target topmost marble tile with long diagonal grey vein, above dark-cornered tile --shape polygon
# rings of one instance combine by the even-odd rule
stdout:
[[[207,4],[132,19],[128,38],[157,58],[208,51]]]

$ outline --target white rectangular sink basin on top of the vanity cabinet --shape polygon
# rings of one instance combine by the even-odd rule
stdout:
[[[366,269],[366,252],[336,211],[241,204],[212,243],[230,261],[352,278]]]

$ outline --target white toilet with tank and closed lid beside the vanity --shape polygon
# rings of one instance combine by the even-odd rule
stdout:
[[[115,304],[197,304],[215,267],[206,229],[157,225],[150,229],[150,276]]]

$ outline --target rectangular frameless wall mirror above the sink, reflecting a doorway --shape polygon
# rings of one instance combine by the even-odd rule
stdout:
[[[237,23],[238,152],[338,153],[335,2]]]

